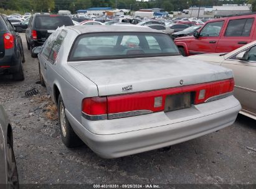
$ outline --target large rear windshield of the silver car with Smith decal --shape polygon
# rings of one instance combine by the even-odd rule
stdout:
[[[80,35],[69,61],[179,55],[173,40],[158,33],[98,33]]]

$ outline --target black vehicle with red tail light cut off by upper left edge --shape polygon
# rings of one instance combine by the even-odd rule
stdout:
[[[21,81],[24,80],[22,65],[25,57],[21,36],[17,31],[0,14],[0,75],[12,75],[14,80]]]

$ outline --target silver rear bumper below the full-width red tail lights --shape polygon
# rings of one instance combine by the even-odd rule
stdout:
[[[82,141],[100,157],[110,159],[189,141],[196,137],[204,136],[205,134],[230,126],[234,123],[237,114],[241,109],[239,101],[237,101],[234,96],[217,101],[202,104],[204,107],[201,108],[201,110],[207,109],[207,106],[209,106],[212,109],[216,109],[214,113],[212,111],[201,112],[200,107],[198,108],[198,106],[194,106],[191,107],[191,109],[170,112],[168,113],[169,115],[166,113],[154,113],[154,115],[148,114],[111,120],[111,122],[120,122],[123,120],[121,127],[126,128],[133,125],[134,119],[136,119],[136,121],[138,121],[138,119],[144,119],[144,122],[147,122],[149,116],[159,116],[160,118],[162,116],[161,114],[166,114],[168,117],[167,119],[169,119],[169,124],[150,126],[145,129],[139,129],[140,126],[138,126],[138,129],[136,130],[119,132],[116,134],[95,134],[92,131],[89,131],[86,126],[83,126],[84,124],[80,124],[80,122],[73,118],[69,111],[66,110],[66,114],[74,131]],[[222,110],[220,111],[217,106],[222,106]],[[197,112],[195,108],[197,110],[199,109],[199,112]],[[195,114],[191,113],[193,111]],[[184,116],[186,116],[186,120],[184,119]],[[96,123],[99,121],[94,122]],[[108,124],[104,124],[104,122],[106,121],[103,121],[103,124],[101,124],[102,130],[111,127],[108,126]],[[143,125],[144,122],[139,121],[137,124]],[[159,120],[159,122],[161,121]],[[97,127],[97,125],[95,125],[95,127]]]

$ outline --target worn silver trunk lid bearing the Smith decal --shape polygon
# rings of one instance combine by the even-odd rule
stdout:
[[[99,96],[158,90],[232,78],[227,68],[191,58],[151,57],[72,62],[70,66],[92,80]],[[183,81],[181,81],[183,80]]]

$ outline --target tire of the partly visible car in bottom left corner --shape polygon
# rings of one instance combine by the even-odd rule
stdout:
[[[7,188],[19,189],[17,165],[16,165],[16,160],[15,160],[10,139],[8,139],[7,141],[6,159],[7,159]]]

